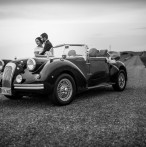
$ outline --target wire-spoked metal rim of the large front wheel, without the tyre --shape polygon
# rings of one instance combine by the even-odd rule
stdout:
[[[68,101],[73,94],[73,86],[69,79],[64,78],[59,81],[57,86],[57,94],[62,101]]]

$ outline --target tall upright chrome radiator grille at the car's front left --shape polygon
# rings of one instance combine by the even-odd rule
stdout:
[[[16,65],[14,63],[8,63],[4,69],[2,77],[2,87],[11,88],[12,78],[15,71]]]

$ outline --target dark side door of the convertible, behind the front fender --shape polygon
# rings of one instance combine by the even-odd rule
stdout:
[[[96,86],[109,80],[109,65],[105,57],[90,57],[88,86]]]

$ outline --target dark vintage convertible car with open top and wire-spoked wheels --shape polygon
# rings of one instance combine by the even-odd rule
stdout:
[[[29,95],[47,95],[54,104],[69,104],[75,94],[112,85],[123,91],[127,82],[125,65],[102,57],[84,44],[62,44],[52,48],[52,55],[8,62],[3,69],[1,94],[9,99]]]

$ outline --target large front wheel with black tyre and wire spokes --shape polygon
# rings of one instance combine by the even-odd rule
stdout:
[[[74,79],[68,74],[62,74],[55,82],[51,100],[57,105],[69,104],[76,93]]]

